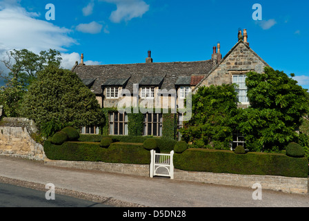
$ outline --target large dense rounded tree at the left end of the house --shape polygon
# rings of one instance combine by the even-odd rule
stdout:
[[[103,114],[97,99],[70,70],[48,66],[39,72],[23,97],[21,113],[40,130],[60,122],[63,126],[100,126]]]

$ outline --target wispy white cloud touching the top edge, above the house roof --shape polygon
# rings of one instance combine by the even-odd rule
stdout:
[[[117,10],[110,15],[110,20],[114,23],[130,21],[133,18],[142,17],[148,12],[149,5],[143,0],[100,0],[115,3]]]

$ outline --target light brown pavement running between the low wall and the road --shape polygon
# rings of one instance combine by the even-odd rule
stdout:
[[[0,156],[0,182],[69,195],[117,207],[308,207],[308,194],[140,177],[48,166],[43,162]]]

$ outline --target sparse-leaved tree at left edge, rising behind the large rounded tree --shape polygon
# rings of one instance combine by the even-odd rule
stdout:
[[[0,77],[6,81],[14,77],[25,86],[30,84],[37,77],[37,73],[46,66],[59,67],[61,64],[60,52],[52,49],[42,50],[39,55],[27,49],[14,49],[7,52],[7,55],[8,59],[3,59],[1,62],[10,70],[10,73],[8,75],[2,73]]]

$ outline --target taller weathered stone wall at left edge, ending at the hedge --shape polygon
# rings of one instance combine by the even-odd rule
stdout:
[[[0,122],[0,155],[44,160],[46,156],[43,145],[32,139],[32,133],[37,133],[33,121],[26,118],[3,117]]]

